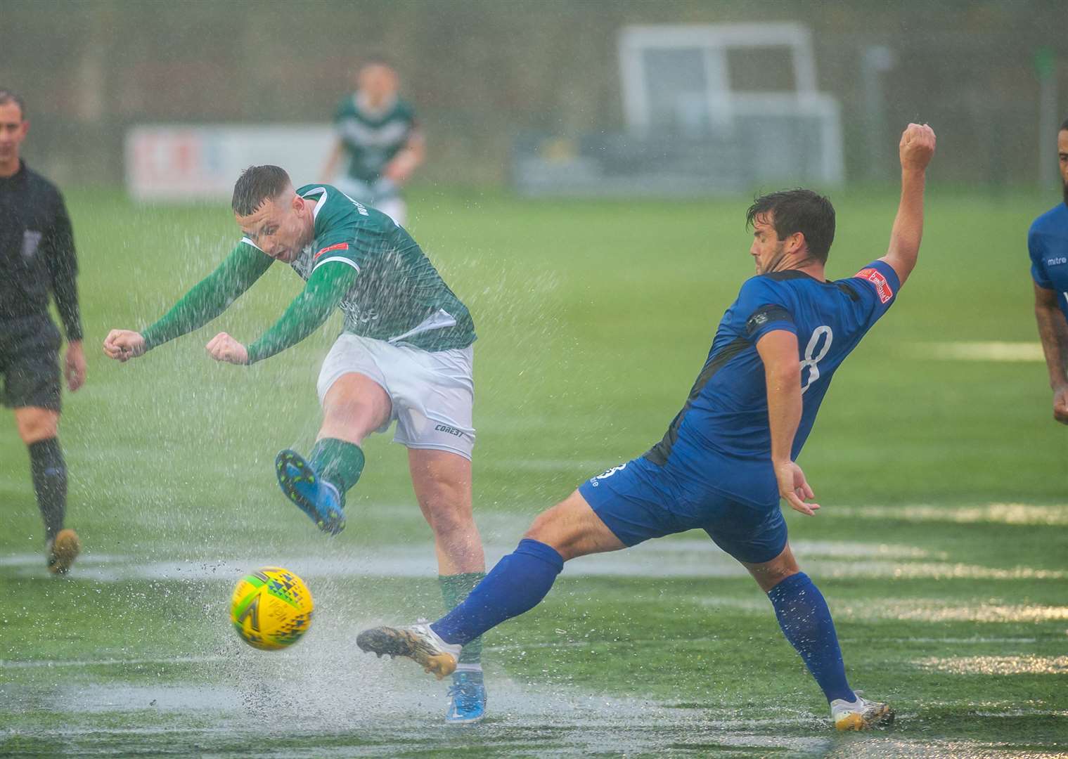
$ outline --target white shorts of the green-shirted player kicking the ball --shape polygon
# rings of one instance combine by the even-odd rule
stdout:
[[[382,386],[392,404],[389,421],[376,432],[384,432],[396,420],[394,443],[449,450],[470,460],[473,363],[471,346],[430,352],[345,332],[319,370],[319,404],[343,375],[364,375]]]

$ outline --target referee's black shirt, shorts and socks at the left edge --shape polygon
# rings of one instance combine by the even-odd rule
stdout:
[[[74,234],[63,196],[19,163],[0,177],[0,400],[12,408],[60,411],[60,333],[48,315],[49,296],[67,341],[81,339]],[[37,504],[51,545],[66,509],[66,464],[56,438],[30,446]]]

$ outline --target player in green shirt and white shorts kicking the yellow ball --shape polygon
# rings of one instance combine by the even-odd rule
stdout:
[[[248,346],[220,332],[207,351],[253,364],[308,337],[335,309],[345,313],[319,371],[315,446],[307,459],[278,455],[279,485],[320,529],[340,533],[345,493],[363,472],[363,441],[395,420],[394,441],[408,448],[415,497],[434,532],[442,597],[454,607],[485,571],[471,513],[475,332],[467,306],[411,235],[331,185],[294,189],[281,168],[250,167],[232,206],[244,237],[230,256],[143,333],[112,330],[105,353],[124,362],[142,355],[219,316],[276,260],[292,266],[308,284],[278,322]],[[450,690],[449,722],[485,713],[482,644],[472,644]]]

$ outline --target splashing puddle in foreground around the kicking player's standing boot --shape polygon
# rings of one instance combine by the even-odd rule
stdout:
[[[610,698],[567,689],[523,686],[493,679],[492,712],[482,726],[445,726],[444,690],[424,680],[396,678],[391,665],[373,662],[362,677],[351,665],[332,674],[315,662],[294,678],[254,673],[234,685],[90,685],[53,693],[49,709],[65,712],[63,726],[17,729],[11,734],[61,737],[68,748],[92,746],[98,755],[123,755],[146,742],[192,742],[199,755],[230,755],[235,742],[256,738],[245,755],[289,756],[272,752],[273,734],[299,738],[307,756],[382,756],[456,752],[472,747],[531,756],[649,754],[665,746],[703,750],[708,746],[756,753],[823,754],[828,738],[783,736],[815,721],[811,716],[719,718],[707,710],[669,708],[659,702]],[[229,679],[235,669],[216,667]],[[341,670],[339,674],[337,669]],[[238,680],[241,678],[238,676]],[[103,712],[114,718],[98,722]],[[121,716],[120,716],[121,715]],[[117,722],[121,720],[121,722]],[[0,753],[4,733],[0,731]],[[167,752],[173,755],[173,748]]]

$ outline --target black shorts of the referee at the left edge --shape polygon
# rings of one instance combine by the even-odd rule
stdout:
[[[0,319],[0,400],[60,410],[60,331],[46,315]]]

